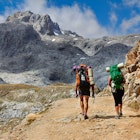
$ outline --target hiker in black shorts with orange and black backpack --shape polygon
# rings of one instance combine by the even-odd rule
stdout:
[[[75,68],[76,82],[75,82],[75,93],[76,97],[80,97],[80,107],[84,119],[88,119],[88,101],[90,97],[90,88],[92,89],[92,97],[94,97],[94,82],[90,82],[88,76],[88,67],[85,64]]]

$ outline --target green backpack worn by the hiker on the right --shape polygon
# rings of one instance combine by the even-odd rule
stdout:
[[[110,75],[113,83],[115,84],[115,88],[120,89],[123,82],[123,77],[117,65],[110,66]]]

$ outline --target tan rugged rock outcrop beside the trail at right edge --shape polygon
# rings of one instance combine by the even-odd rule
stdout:
[[[133,108],[140,108],[140,41],[126,55],[126,97]],[[131,100],[130,100],[131,99]]]

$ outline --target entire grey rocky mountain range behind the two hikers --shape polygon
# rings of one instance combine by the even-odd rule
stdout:
[[[44,86],[75,82],[72,66],[85,63],[94,70],[95,84],[104,88],[107,66],[124,61],[140,35],[84,39],[63,31],[49,15],[17,12],[0,24],[0,77],[6,83]]]

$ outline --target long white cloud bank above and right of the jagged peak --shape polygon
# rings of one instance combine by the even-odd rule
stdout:
[[[106,29],[99,25],[94,13],[90,9],[85,7],[80,9],[76,4],[71,7],[48,8],[46,0],[25,0],[24,3],[17,7],[16,10],[10,9],[6,13],[12,14],[16,11],[30,10],[36,14],[48,14],[54,22],[60,25],[60,28],[71,30],[87,38],[98,38],[108,34]]]

